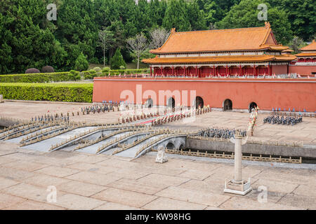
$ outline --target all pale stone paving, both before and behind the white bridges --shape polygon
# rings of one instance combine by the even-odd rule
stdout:
[[[79,111],[89,104],[31,104],[5,102],[0,116],[31,118],[50,111]],[[76,120],[117,122],[119,112],[75,116]],[[259,115],[255,137],[316,144],[316,118],[295,126],[263,125]],[[181,121],[170,127],[246,128],[249,113],[217,112]],[[245,196],[223,193],[234,174],[233,160],[169,155],[155,163],[156,153],[132,160],[115,155],[79,152],[44,153],[0,142],[0,209],[316,209],[316,165],[243,161],[243,179],[254,190]],[[48,186],[57,201],[47,202]],[[258,202],[258,187],[268,190],[268,201]]]

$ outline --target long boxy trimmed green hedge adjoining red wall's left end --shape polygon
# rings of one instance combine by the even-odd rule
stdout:
[[[4,99],[53,102],[92,102],[93,84],[0,83]]]

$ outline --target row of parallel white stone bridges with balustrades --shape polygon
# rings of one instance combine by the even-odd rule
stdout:
[[[29,123],[2,130],[0,139],[47,153],[62,150],[138,158],[158,146],[183,149],[187,136],[196,134],[146,125]]]

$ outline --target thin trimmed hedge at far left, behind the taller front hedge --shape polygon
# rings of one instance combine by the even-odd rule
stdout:
[[[0,83],[50,83],[70,81],[69,72],[2,75]]]

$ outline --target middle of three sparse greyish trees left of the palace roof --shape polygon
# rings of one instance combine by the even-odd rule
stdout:
[[[147,39],[144,34],[137,34],[134,38],[127,40],[127,48],[130,50],[132,57],[137,59],[137,69],[139,69],[139,59],[147,49]]]

